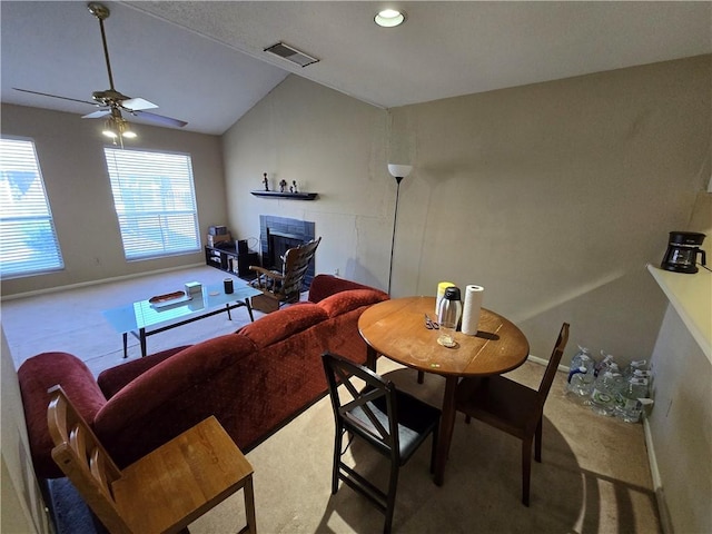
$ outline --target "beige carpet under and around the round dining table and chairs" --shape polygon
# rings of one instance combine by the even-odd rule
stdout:
[[[386,359],[378,372],[398,387],[439,404],[443,380]],[[543,367],[525,364],[512,373],[536,382]],[[556,377],[546,405],[543,463],[532,469],[531,506],[521,504],[518,441],[459,416],[437,487],[428,472],[428,446],[400,471],[394,532],[403,533],[657,533],[642,425],[593,414],[563,394]],[[330,495],[333,415],[328,398],[251,451],[258,528],[264,533],[376,533],[383,515],[342,484]],[[347,457],[385,482],[385,458],[358,441]],[[383,486],[382,486],[383,487]],[[190,531],[221,534],[243,521],[241,496],[198,520]],[[230,531],[234,532],[234,531]]]

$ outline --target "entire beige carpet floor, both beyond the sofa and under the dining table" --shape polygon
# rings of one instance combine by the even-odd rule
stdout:
[[[117,365],[121,336],[101,309],[175,290],[185,281],[220,281],[212,268],[189,269],[138,280],[2,303],[2,324],[19,365],[43,350],[67,350],[92,370]],[[137,296],[138,295],[138,296]],[[27,328],[33,318],[36,327]],[[39,319],[40,326],[37,329]],[[249,320],[243,309],[233,322],[219,315],[149,337],[149,353],[196,343],[237,329]],[[552,330],[552,344],[556,332]],[[575,343],[575,338],[572,339]],[[16,353],[17,352],[17,353]],[[130,357],[139,357],[132,342]],[[537,384],[543,366],[527,363],[508,376]],[[378,372],[398,387],[438,406],[443,380],[380,358]],[[445,472],[436,486],[428,473],[429,444],[400,471],[394,532],[400,533],[659,533],[643,426],[593,414],[564,393],[560,374],[545,408],[543,463],[532,468],[531,506],[521,504],[520,442],[458,416]],[[342,485],[330,495],[334,419],[323,398],[247,457],[255,468],[257,526],[260,533],[377,533],[383,515]],[[357,468],[385,481],[387,462],[354,441],[347,457]],[[241,494],[199,518],[194,534],[237,532],[244,524]]]

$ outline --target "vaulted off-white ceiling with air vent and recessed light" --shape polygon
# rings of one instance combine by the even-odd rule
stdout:
[[[390,108],[712,52],[712,2],[102,3],[116,88],[214,135],[289,73]],[[406,22],[377,27],[384,7],[404,10]],[[91,101],[109,87],[87,3],[0,9],[2,102],[93,111],[13,89]],[[301,68],[264,51],[279,41],[319,61]]]

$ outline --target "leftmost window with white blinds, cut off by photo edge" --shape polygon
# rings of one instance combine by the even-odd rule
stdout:
[[[10,278],[63,267],[34,142],[0,139],[0,274]]]

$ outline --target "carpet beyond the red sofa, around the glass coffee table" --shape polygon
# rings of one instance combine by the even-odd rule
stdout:
[[[125,306],[155,295],[182,290],[188,281],[205,286],[233,278],[235,286],[247,284],[212,267],[195,267],[169,273],[110,281],[96,286],[2,300],[2,328],[16,367],[43,352],[70,353],[82,359],[95,375],[123,359],[121,334],[103,318],[105,309]],[[255,312],[255,318],[263,314]],[[190,323],[147,338],[148,354],[191,345],[229,334],[249,323],[247,308]],[[129,359],[141,357],[138,339],[128,337]]]

